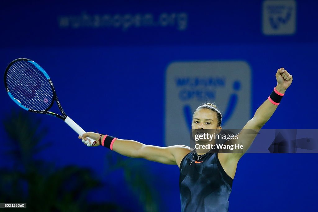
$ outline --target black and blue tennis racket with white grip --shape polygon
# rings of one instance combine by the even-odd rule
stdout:
[[[86,133],[78,124],[68,117],[56,95],[52,80],[36,62],[26,58],[13,60],[4,72],[4,85],[10,98],[24,110],[33,113],[48,114],[63,120],[77,134]],[[61,114],[50,112],[54,101]],[[91,140],[92,145],[96,143]],[[85,140],[82,140],[85,142]],[[92,146],[87,143],[87,146]]]

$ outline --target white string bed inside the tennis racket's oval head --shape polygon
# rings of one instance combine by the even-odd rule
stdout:
[[[7,86],[12,96],[32,110],[46,110],[53,101],[53,91],[44,73],[25,60],[13,63],[7,72]]]

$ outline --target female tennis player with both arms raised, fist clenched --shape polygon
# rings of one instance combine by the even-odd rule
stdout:
[[[293,81],[287,70],[280,68],[276,73],[277,85],[268,99],[259,106],[253,118],[244,129],[259,130],[273,115],[286,89]],[[222,115],[210,103],[199,106],[193,114],[192,129],[221,130]],[[241,132],[243,132],[243,130]],[[211,149],[194,149],[184,145],[157,147],[134,140],[117,139],[110,135],[85,133],[79,136],[85,144],[90,137],[98,142],[94,146],[104,146],[132,158],[144,158],[164,164],[178,165],[180,169],[179,187],[182,212],[222,212],[228,211],[228,199],[232,191],[239,159],[246,152],[256,134],[240,133],[241,153],[213,153]]]

